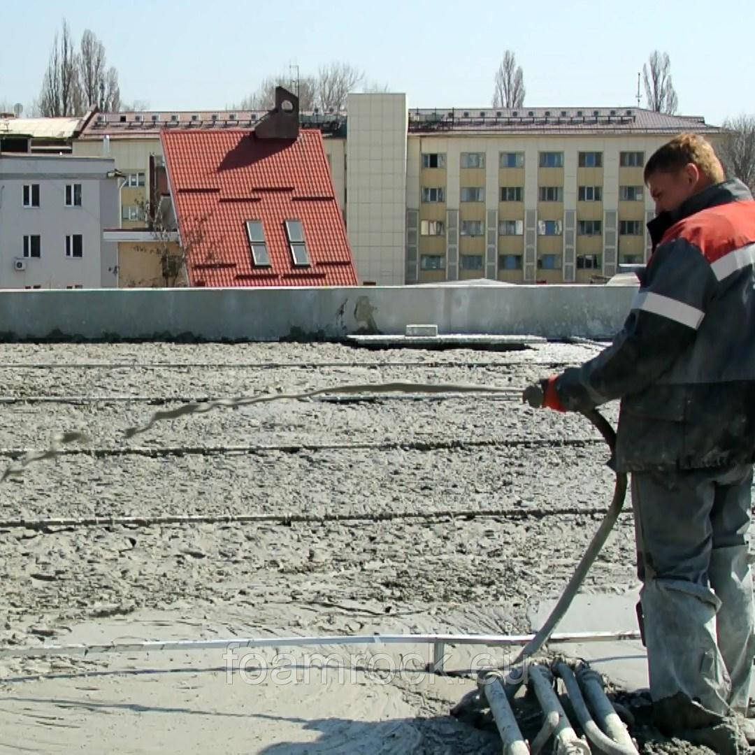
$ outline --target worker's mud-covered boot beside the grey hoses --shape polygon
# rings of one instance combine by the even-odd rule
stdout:
[[[749,752],[747,737],[739,726],[741,721],[744,719],[738,716],[711,713],[682,692],[653,703],[653,723],[661,734],[710,747],[718,755]]]

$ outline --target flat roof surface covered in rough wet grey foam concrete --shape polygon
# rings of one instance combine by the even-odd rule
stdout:
[[[519,389],[600,347],[0,345],[5,460],[45,448],[54,432],[89,437],[6,483],[2,519],[141,519],[42,530],[0,522],[0,646],[527,632],[541,602],[562,590],[612,495],[605,444],[584,418],[535,412],[516,395],[341,396],[217,408],[132,439],[124,430],[207,397],[379,381]],[[615,423],[615,405],[604,411]],[[242,514],[269,520],[156,519]],[[334,515],[343,518],[327,520]],[[633,563],[627,504],[583,592],[632,596]],[[622,603],[615,615],[598,613],[593,628],[631,624],[627,616]],[[362,652],[373,672],[356,668],[352,680],[347,666],[345,680],[331,670],[323,681],[310,670],[309,682],[297,684],[290,673],[273,678],[282,660],[268,650],[260,683],[248,683],[259,658],[244,681],[238,664],[227,676],[220,651],[0,659],[0,751],[14,741],[45,752],[501,751],[494,732],[448,716],[473,682],[421,673],[430,648],[313,648],[346,664]],[[447,670],[489,653],[448,650]],[[300,651],[294,665],[303,674]],[[417,651],[409,673],[387,682],[374,673],[379,664],[409,664]]]

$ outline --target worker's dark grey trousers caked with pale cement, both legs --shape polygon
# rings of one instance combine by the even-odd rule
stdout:
[[[747,710],[755,655],[752,479],[751,464],[632,474],[653,701],[676,695],[724,716]]]

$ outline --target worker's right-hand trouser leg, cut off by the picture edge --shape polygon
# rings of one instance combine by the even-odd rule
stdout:
[[[708,575],[721,600],[716,615],[718,647],[732,680],[729,704],[743,715],[747,713],[755,656],[753,587],[747,559],[752,478],[749,464],[720,476],[710,514],[713,550]]]

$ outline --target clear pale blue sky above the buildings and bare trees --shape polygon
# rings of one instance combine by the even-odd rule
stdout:
[[[122,99],[157,110],[220,109],[291,63],[304,75],[330,60],[405,91],[410,106],[489,106],[507,48],[528,105],[629,105],[658,48],[683,114],[755,112],[755,0],[24,0],[0,15],[0,103],[26,107],[65,15],[75,39],[88,28],[102,40]]]

